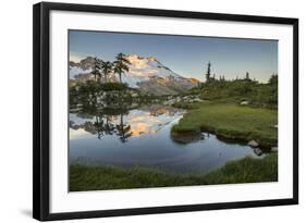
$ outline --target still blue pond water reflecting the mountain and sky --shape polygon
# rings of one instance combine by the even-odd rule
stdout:
[[[127,111],[71,110],[70,162],[196,174],[230,160],[265,156],[260,149],[223,141],[207,133],[187,144],[174,141],[171,126],[183,114],[183,110],[154,106]]]

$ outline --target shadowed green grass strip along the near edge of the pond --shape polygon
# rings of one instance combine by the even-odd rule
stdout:
[[[230,161],[223,168],[205,175],[174,175],[142,168],[70,165],[70,191],[277,181],[277,153],[271,153],[264,159],[246,157]]]

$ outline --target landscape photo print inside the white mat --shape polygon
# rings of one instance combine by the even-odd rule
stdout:
[[[278,182],[278,40],[69,30],[70,191]]]

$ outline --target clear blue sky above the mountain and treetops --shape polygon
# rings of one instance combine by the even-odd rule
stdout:
[[[266,83],[278,73],[278,41],[218,37],[128,34],[70,30],[70,60],[88,55],[113,61],[119,52],[156,57],[173,72],[205,80],[207,64],[211,74],[227,79],[244,77]]]

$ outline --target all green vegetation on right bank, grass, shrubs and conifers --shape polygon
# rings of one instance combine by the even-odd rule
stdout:
[[[172,127],[173,139],[200,132],[218,136],[256,140],[260,146],[278,146],[278,75],[273,74],[267,84],[245,78],[227,80],[210,76],[208,63],[206,83],[191,90],[209,102],[179,102],[174,107],[188,112]]]

